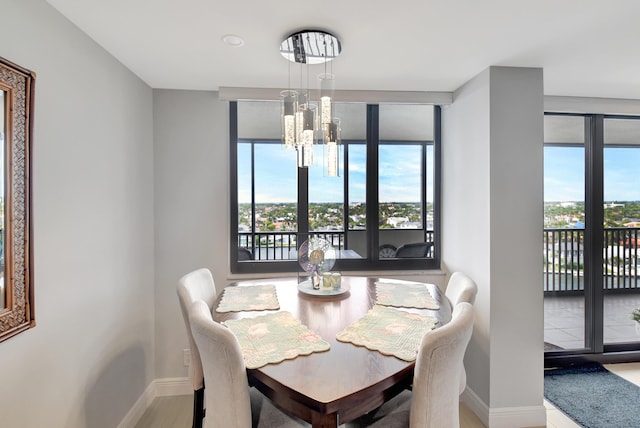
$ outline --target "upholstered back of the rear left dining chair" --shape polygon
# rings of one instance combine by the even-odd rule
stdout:
[[[180,300],[180,310],[182,318],[187,327],[187,336],[189,337],[189,347],[191,348],[191,364],[189,365],[189,378],[193,383],[194,391],[204,386],[204,374],[202,372],[202,359],[198,352],[198,347],[193,340],[191,334],[191,325],[189,324],[189,308],[197,301],[202,300],[209,307],[213,308],[216,300],[216,285],[213,282],[213,276],[209,269],[198,269],[190,272],[180,278],[178,281],[178,299]]]

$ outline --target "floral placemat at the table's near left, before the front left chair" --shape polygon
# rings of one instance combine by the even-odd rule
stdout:
[[[327,351],[330,347],[328,342],[286,311],[227,320],[223,324],[238,338],[249,369]]]

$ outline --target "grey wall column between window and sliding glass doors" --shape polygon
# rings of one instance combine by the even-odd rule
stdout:
[[[443,140],[443,261],[479,286],[467,399],[491,427],[544,425],[542,70],[472,79]]]

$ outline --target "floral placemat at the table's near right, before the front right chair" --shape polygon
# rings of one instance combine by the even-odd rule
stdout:
[[[358,321],[336,335],[340,342],[414,361],[424,334],[435,328],[434,317],[375,305]]]

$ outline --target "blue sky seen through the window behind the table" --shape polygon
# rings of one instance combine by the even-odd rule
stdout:
[[[342,155],[342,148],[340,154]],[[379,199],[381,202],[420,201],[420,148],[418,146],[382,145],[379,152]],[[314,165],[309,167],[310,202],[342,202],[344,165],[340,164],[339,177],[327,177],[324,146],[314,151]],[[238,145],[238,201],[251,201],[251,176],[248,168],[249,144]],[[295,202],[296,152],[281,144],[256,144],[255,190],[257,203]],[[349,148],[349,202],[365,201],[365,146],[352,144]],[[432,169],[433,151],[427,152],[427,165]],[[433,194],[433,180],[427,180],[427,194]]]

